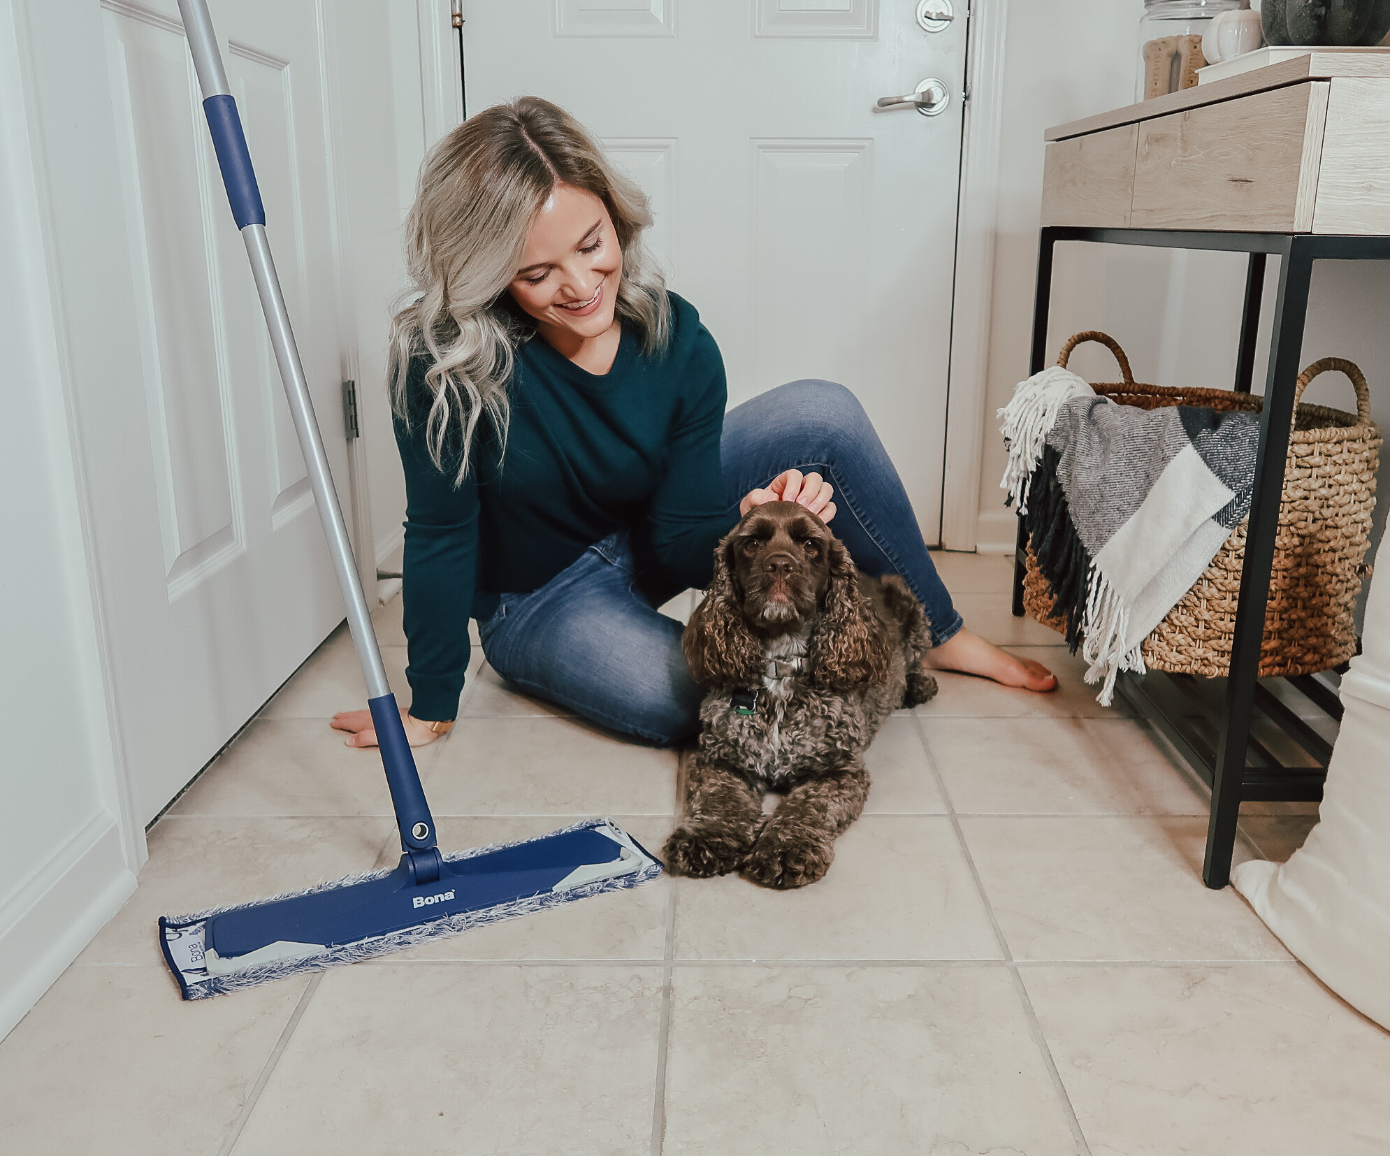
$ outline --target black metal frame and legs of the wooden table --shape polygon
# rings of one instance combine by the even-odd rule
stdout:
[[[1118,685],[1126,700],[1156,725],[1183,754],[1188,766],[1212,788],[1211,816],[1207,825],[1207,854],[1202,880],[1209,888],[1223,888],[1230,881],[1230,860],[1236,845],[1236,821],[1243,799],[1290,800],[1320,799],[1325,766],[1330,745],[1312,727],[1276,697],[1257,677],[1264,635],[1269,578],[1273,565],[1275,535],[1279,525],[1279,502],[1284,484],[1284,459],[1293,428],[1294,388],[1301,371],[1304,325],[1308,315],[1308,289],[1314,261],[1386,261],[1390,260],[1387,236],[1316,236],[1311,233],[1198,232],[1168,229],[1115,229],[1049,225],[1041,232],[1038,246],[1037,296],[1033,307],[1033,352],[1030,374],[1047,365],[1047,325],[1052,295],[1052,260],[1058,242],[1081,240],[1102,245],[1140,245],[1155,249],[1212,249],[1248,253],[1245,304],[1240,322],[1240,352],[1236,361],[1234,389],[1250,392],[1259,336],[1259,306],[1265,283],[1265,264],[1270,254],[1280,258],[1279,296],[1275,303],[1269,335],[1269,371],[1265,381],[1265,404],[1259,418],[1259,450],[1255,461],[1255,489],[1245,535],[1245,560],[1240,574],[1240,600],[1236,610],[1230,677],[1226,679],[1220,709],[1204,709],[1219,728],[1215,750],[1187,721],[1184,707],[1175,700],[1194,704],[1191,685],[1180,678],[1150,672],[1138,678],[1120,677]],[[1015,554],[1013,614],[1023,614],[1023,547],[1027,535],[1019,520],[1019,545]],[[1165,688],[1162,684],[1168,684]],[[1191,679],[1187,681],[1191,684]],[[1290,679],[1300,691],[1336,718],[1341,706],[1336,692],[1308,675]],[[1197,706],[1202,706],[1197,703]],[[1250,752],[1268,752],[1251,738],[1257,706],[1286,729],[1323,767],[1284,768],[1270,766],[1247,770]]]

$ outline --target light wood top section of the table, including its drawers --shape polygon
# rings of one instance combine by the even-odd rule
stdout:
[[[1044,225],[1390,233],[1390,49],[1309,51],[1045,139]]]

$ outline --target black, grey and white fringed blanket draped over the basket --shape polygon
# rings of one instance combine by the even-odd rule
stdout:
[[[1259,421],[1120,406],[1059,365],[1020,382],[999,418],[999,486],[1109,706],[1116,675],[1144,672],[1140,643],[1248,513]]]

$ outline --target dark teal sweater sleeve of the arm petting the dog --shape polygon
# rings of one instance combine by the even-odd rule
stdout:
[[[728,399],[724,360],[703,325],[681,378],[682,403],[667,438],[666,467],[652,493],[649,518],[662,564],[703,589],[713,572],[714,545],[734,524],[719,459]]]

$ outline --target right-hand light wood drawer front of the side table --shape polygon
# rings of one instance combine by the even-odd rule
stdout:
[[[1309,81],[1141,121],[1129,224],[1309,232],[1327,93]]]

